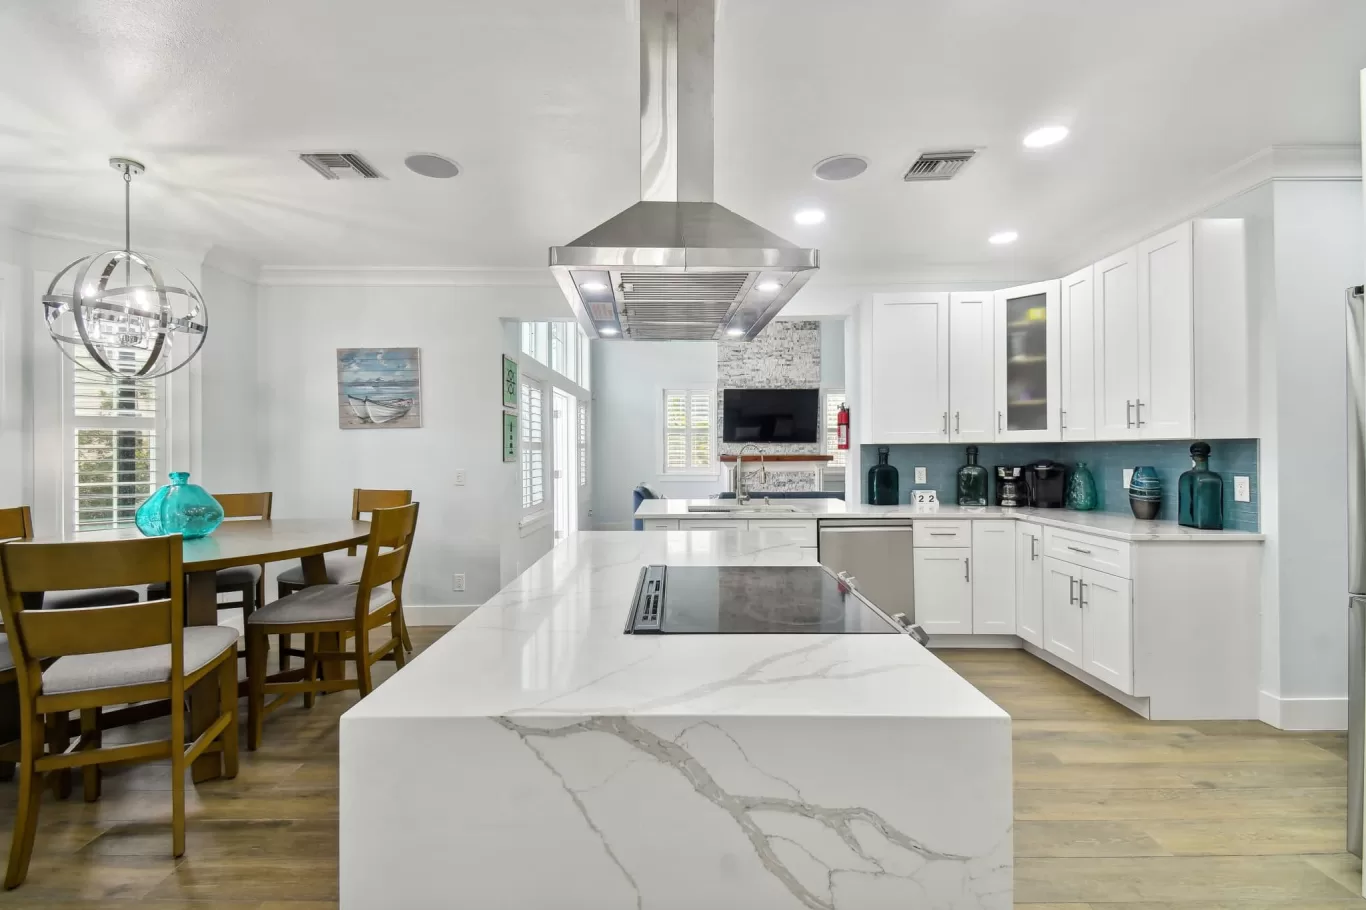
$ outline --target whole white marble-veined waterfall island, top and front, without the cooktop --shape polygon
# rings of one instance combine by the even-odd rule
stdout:
[[[1011,906],[1005,712],[908,635],[626,635],[649,563],[811,557],[560,544],[343,716],[343,910]]]

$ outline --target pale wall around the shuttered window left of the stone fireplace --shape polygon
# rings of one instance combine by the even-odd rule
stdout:
[[[671,499],[706,499],[724,478],[661,471],[667,388],[714,388],[714,342],[593,342],[593,526],[631,527],[631,491],[647,481]]]

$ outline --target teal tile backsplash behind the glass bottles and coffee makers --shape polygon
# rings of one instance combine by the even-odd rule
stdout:
[[[1261,530],[1257,503],[1259,499],[1257,475],[1255,439],[1212,439],[1206,440],[1213,452],[1209,456],[1210,470],[1224,478],[1224,527],[1229,530]],[[862,447],[862,463],[877,463],[877,445]],[[923,467],[926,481],[922,489],[933,489],[944,503],[955,500],[955,478],[958,469],[967,462],[967,445],[891,445],[891,458],[902,475],[902,501],[917,489],[915,469]],[[1096,477],[1098,511],[1132,514],[1128,508],[1128,491],[1124,489],[1124,469],[1149,465],[1157,469],[1162,478],[1162,507],[1160,519],[1176,521],[1176,480],[1190,469],[1191,440],[1171,440],[1153,443],[986,443],[978,445],[978,463],[992,473],[992,496],[996,496],[997,465],[1024,465],[1040,458],[1050,458],[1068,467],[1086,462]],[[1233,501],[1233,475],[1249,477],[1251,481],[1251,501]],[[867,474],[865,471],[862,501],[867,501]]]

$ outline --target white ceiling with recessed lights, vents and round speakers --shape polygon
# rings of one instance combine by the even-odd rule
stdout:
[[[540,268],[638,194],[630,0],[10,0],[0,204],[266,265]],[[717,201],[840,272],[1029,272],[1270,145],[1355,143],[1361,0],[723,0]],[[1029,152],[1020,137],[1072,128]],[[982,146],[904,184],[922,149]],[[325,182],[301,150],[388,180]],[[464,174],[429,180],[415,150]],[[872,158],[821,183],[829,154]],[[829,219],[796,227],[817,205]],[[1014,228],[1012,247],[986,236]],[[117,238],[113,232],[111,239]]]

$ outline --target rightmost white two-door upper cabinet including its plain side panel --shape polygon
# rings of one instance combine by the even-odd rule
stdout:
[[[1179,224],[1093,275],[1096,439],[1255,436],[1242,220]]]

